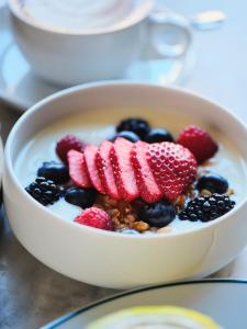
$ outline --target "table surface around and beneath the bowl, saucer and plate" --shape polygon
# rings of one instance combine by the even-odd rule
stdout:
[[[167,7],[192,15],[209,9],[223,10],[228,20],[212,32],[194,33],[195,65],[186,88],[231,109],[247,123],[246,1],[166,0]],[[20,116],[0,102],[1,134],[7,138]],[[0,328],[31,329],[82,307],[114,291],[65,277],[35,260],[14,238],[3,217],[0,229]],[[247,249],[216,276],[247,279]]]

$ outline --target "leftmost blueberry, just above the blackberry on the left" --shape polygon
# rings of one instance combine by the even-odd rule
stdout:
[[[37,175],[52,180],[56,184],[65,184],[70,179],[67,167],[55,161],[43,162],[42,167],[37,170]]]

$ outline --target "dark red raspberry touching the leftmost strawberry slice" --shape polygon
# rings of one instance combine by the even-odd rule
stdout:
[[[67,154],[70,149],[82,152],[83,148],[85,145],[79,138],[67,135],[57,143],[56,154],[64,163],[67,163]]]

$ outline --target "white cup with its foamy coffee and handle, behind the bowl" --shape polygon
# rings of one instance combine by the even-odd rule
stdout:
[[[60,86],[116,79],[145,49],[183,55],[186,20],[151,19],[154,0],[9,0],[15,41],[38,77]],[[154,56],[156,56],[154,55]]]

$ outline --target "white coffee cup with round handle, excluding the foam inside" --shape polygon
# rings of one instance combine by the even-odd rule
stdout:
[[[154,0],[143,0],[138,14],[123,24],[86,32],[37,24],[23,14],[16,1],[8,1],[15,41],[33,71],[56,84],[121,78],[145,49],[164,58],[178,57],[191,43],[188,21],[176,15],[153,16]]]

